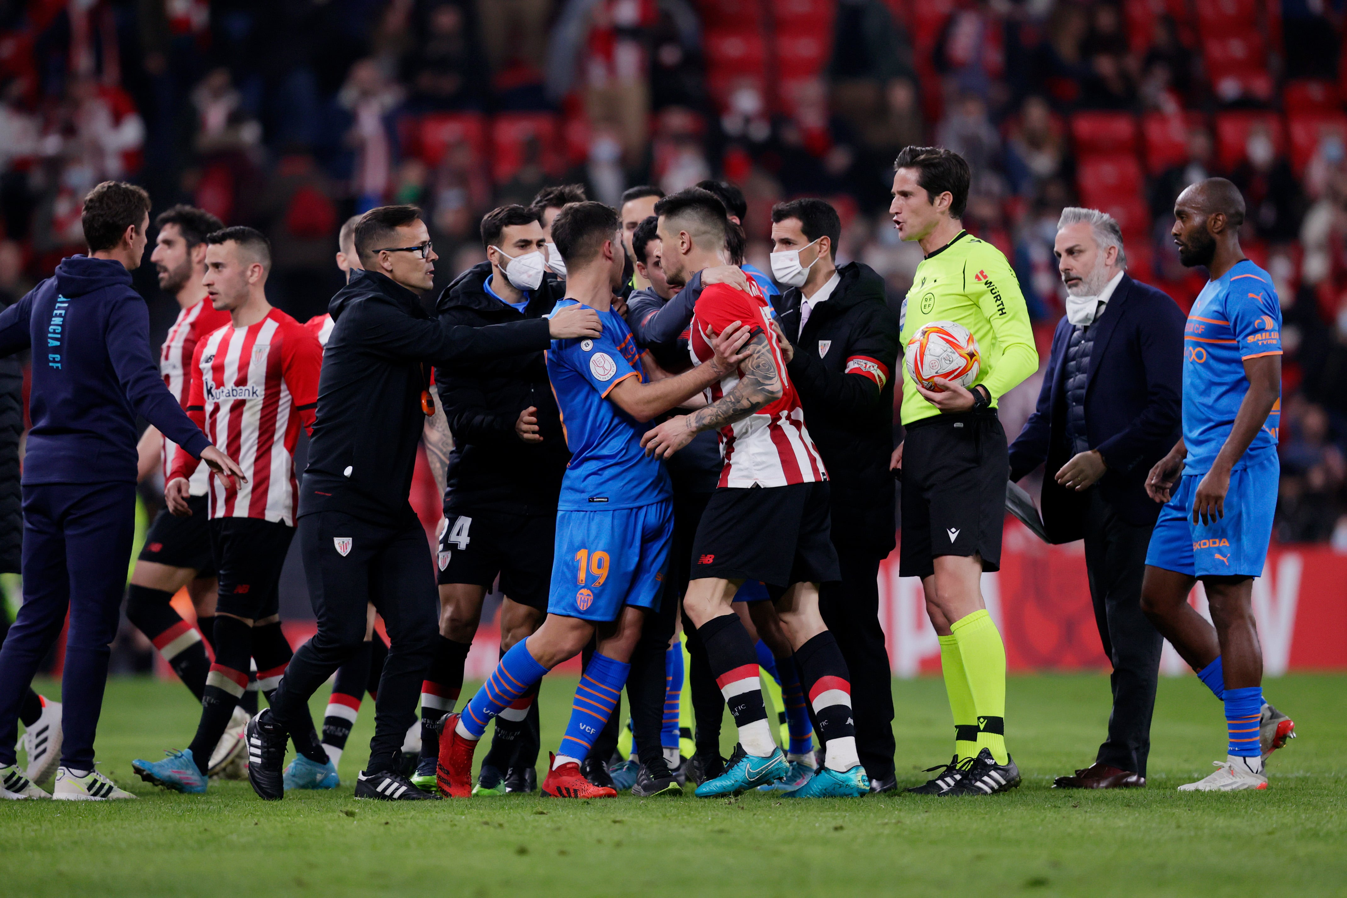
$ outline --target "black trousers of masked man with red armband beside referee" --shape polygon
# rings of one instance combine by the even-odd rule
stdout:
[[[834,541],[841,583],[819,586],[819,613],[851,676],[855,751],[870,781],[893,775],[893,669],[880,626],[880,561],[874,552]]]

